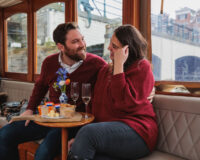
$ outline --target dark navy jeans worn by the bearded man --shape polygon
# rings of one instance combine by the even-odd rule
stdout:
[[[75,133],[69,132],[69,139]],[[35,160],[53,160],[61,152],[61,129],[43,127],[25,121],[8,124],[0,129],[0,160],[18,160],[18,144],[45,139],[36,151]]]

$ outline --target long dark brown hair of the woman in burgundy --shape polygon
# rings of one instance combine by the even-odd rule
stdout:
[[[122,46],[128,45],[129,48],[129,56],[124,63],[124,70],[126,71],[135,61],[145,57],[147,54],[147,41],[134,26],[129,24],[118,27],[114,34]]]

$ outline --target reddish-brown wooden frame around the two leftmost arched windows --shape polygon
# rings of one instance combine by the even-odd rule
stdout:
[[[65,3],[65,22],[78,20],[77,1],[74,0],[24,0],[17,5],[0,9],[0,35],[1,35],[1,75],[4,78],[13,80],[35,82],[39,77],[36,74],[37,61],[37,28],[36,28],[36,12],[50,4],[56,2]],[[27,73],[8,72],[7,70],[7,21],[6,19],[17,13],[27,14],[27,43],[28,43],[28,71]]]

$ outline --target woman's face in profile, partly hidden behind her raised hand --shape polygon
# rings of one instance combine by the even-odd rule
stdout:
[[[108,46],[108,50],[110,51],[110,59],[113,61],[114,60],[114,54],[116,50],[119,48],[122,48],[122,44],[119,42],[115,34],[112,35],[112,38],[110,39],[110,44]]]

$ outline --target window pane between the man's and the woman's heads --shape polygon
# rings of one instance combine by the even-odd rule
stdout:
[[[88,52],[109,61],[110,38],[121,24],[122,0],[78,0],[78,25]]]

